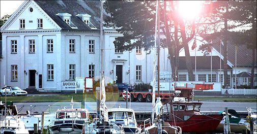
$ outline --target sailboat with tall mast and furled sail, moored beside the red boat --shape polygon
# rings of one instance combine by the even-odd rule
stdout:
[[[160,98],[160,13],[159,13],[159,5],[160,2],[156,1],[156,21],[155,21],[155,48],[157,48],[157,81],[158,81],[158,97],[156,99],[156,103],[155,103],[155,95],[153,95],[153,99],[152,99],[152,103],[153,103],[153,111],[152,111],[152,125],[145,127],[146,124],[144,123],[144,130],[142,131],[143,133],[182,133],[182,129],[179,126],[171,126],[168,122],[165,122],[162,119],[162,115],[163,115],[163,105],[161,102],[161,98]],[[157,24],[157,26],[156,26]],[[158,35],[158,38],[157,38]],[[158,44],[158,47],[157,45]],[[156,57],[155,57],[156,59]],[[154,70],[153,70],[153,74],[154,74],[154,80],[152,83],[153,86],[153,94],[155,94],[155,71],[156,71],[156,65],[155,65],[155,60],[154,60]],[[154,118],[154,111],[156,114],[156,118]],[[147,119],[148,120],[148,119]],[[145,120],[144,122],[146,122],[147,120]],[[151,121],[150,121],[151,124]]]

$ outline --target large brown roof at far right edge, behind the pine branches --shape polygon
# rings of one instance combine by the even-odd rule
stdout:
[[[247,40],[247,39],[246,39]],[[234,66],[236,65],[236,45],[230,42],[227,43],[227,60]],[[224,46],[221,45],[221,55],[224,54]],[[213,48],[220,52],[220,39],[213,40]],[[255,51],[256,56],[256,51]],[[238,45],[237,51],[237,66],[251,66],[252,65],[252,49],[248,49],[247,45]],[[257,58],[255,58],[256,66]]]

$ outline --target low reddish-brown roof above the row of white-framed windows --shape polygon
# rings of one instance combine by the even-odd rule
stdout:
[[[194,70],[195,60],[193,56],[191,58],[192,69]],[[220,58],[219,56],[212,56],[212,70],[220,69]],[[221,59],[221,70],[224,69],[223,60]],[[227,65],[228,70],[232,70],[232,68]],[[186,58],[179,57],[179,70],[187,70],[186,67]],[[211,56],[196,56],[196,70],[211,70]]]

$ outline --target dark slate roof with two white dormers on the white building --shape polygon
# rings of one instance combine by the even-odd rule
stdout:
[[[91,22],[100,29],[100,1],[34,1],[49,15],[62,29],[72,29],[62,18],[57,16],[59,13],[71,14],[71,21],[78,30],[94,30],[85,24],[78,14],[91,15]],[[104,15],[107,15],[104,12]]]

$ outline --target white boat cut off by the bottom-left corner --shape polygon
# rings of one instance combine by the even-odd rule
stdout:
[[[1,117],[1,119],[3,119]],[[0,122],[0,133],[22,133],[22,134],[28,134],[28,130],[25,128],[25,124],[23,121],[21,121],[18,116],[14,116],[13,118],[9,118],[1,120]]]

